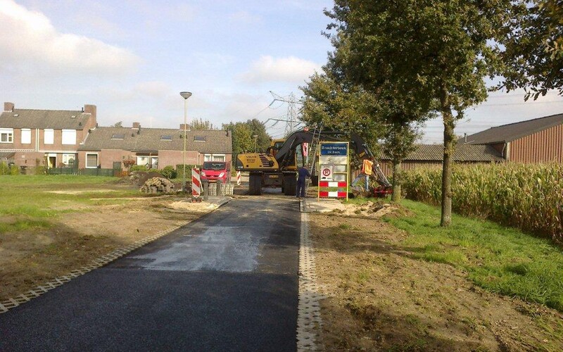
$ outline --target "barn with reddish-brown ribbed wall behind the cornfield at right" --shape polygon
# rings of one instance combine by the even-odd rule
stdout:
[[[457,141],[458,146],[487,145],[506,161],[563,162],[563,114],[491,127]]]

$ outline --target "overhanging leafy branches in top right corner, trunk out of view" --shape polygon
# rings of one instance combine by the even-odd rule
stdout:
[[[558,89],[563,95],[563,0],[524,0],[515,7],[516,27],[500,42],[507,62],[500,87],[526,90],[525,100]]]

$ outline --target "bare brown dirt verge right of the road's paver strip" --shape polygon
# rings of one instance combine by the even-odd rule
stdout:
[[[491,294],[450,265],[414,258],[403,246],[407,234],[386,222],[320,214],[310,220],[326,297],[322,349],[563,350],[562,335],[552,334],[554,327],[563,331],[555,310]]]

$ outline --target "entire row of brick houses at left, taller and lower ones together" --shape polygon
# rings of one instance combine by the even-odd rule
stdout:
[[[186,164],[232,161],[232,135],[222,130],[188,130]],[[116,168],[132,160],[161,169],[184,163],[184,125],[178,129],[98,127],[96,106],[81,111],[16,109],[4,103],[0,115],[0,162],[47,168]]]

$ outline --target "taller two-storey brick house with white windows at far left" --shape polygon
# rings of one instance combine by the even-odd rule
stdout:
[[[84,105],[81,111],[33,110],[6,102],[0,115],[0,161],[24,167],[83,167],[78,147],[94,127],[95,105]]]

